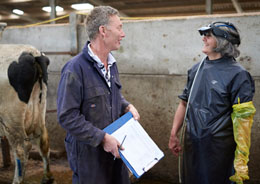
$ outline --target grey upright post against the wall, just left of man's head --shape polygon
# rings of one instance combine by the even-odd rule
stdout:
[[[77,35],[77,15],[76,13],[70,14],[70,51],[71,55],[78,53],[78,35]]]

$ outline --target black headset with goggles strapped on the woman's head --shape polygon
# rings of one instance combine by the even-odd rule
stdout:
[[[239,34],[234,35],[230,32],[220,29],[219,27],[228,27],[237,32],[236,27],[229,22],[214,22],[206,27],[201,27],[198,31],[200,35],[207,35],[209,32],[212,32],[214,36],[224,38],[230,41],[232,44],[240,44]]]

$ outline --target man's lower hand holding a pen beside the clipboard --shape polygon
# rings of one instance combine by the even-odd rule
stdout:
[[[120,158],[118,152],[120,143],[116,140],[116,138],[106,133],[102,144],[106,152],[112,153],[116,158]]]

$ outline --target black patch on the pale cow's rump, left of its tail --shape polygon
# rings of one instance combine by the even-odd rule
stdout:
[[[28,103],[34,83],[37,81],[35,69],[35,58],[23,52],[18,58],[18,62],[13,61],[8,67],[9,83],[18,93],[21,101]]]

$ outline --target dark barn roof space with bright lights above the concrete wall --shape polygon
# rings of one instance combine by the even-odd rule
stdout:
[[[75,5],[83,7],[84,4],[85,10],[75,8]],[[0,21],[6,22],[8,26],[27,25],[65,16],[75,11],[88,12],[92,6],[99,5],[110,5],[118,9],[122,17],[236,14],[259,12],[260,9],[258,0],[2,0],[0,2]],[[56,8],[43,10],[47,7]],[[18,13],[14,10],[18,10]],[[68,18],[61,19],[57,23],[68,23],[68,21]]]

